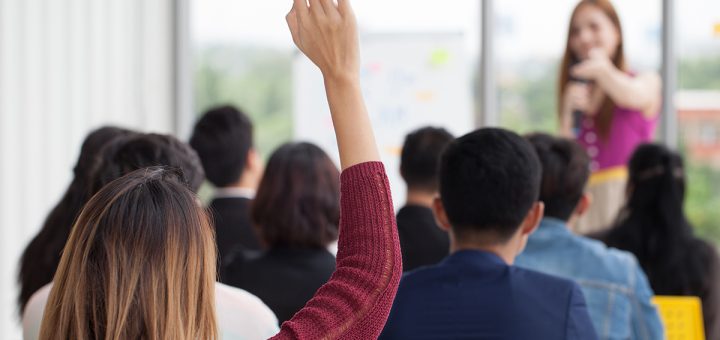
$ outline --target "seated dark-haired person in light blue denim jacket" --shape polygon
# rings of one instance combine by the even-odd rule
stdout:
[[[584,193],[590,175],[585,150],[545,134],[527,139],[542,164],[545,217],[515,265],[577,282],[600,339],[662,339],[653,292],[635,256],[570,229],[590,204]]]

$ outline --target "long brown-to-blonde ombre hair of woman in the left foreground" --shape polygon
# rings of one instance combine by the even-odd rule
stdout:
[[[213,231],[182,172],[133,171],[82,210],[42,339],[215,339]]]

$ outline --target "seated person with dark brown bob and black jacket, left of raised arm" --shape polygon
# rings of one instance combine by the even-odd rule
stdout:
[[[340,173],[317,146],[284,144],[268,160],[251,214],[268,250],[233,256],[221,280],[255,294],[283,322],[335,270],[327,246],[337,239]]]

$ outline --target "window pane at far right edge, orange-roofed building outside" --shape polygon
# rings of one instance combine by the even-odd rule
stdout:
[[[685,155],[686,212],[696,232],[720,244],[720,2],[678,1],[680,151]]]

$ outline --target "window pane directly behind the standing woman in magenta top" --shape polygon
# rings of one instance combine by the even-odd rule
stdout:
[[[557,131],[558,67],[576,0],[495,2],[495,58],[500,124],[519,131]],[[659,70],[659,0],[615,1],[626,58],[634,72]]]

